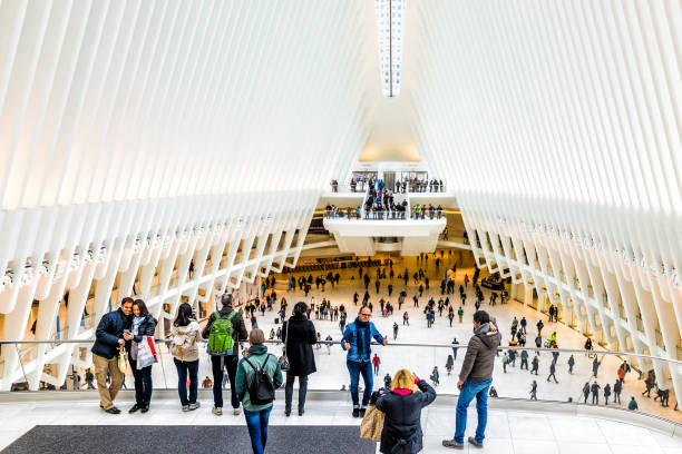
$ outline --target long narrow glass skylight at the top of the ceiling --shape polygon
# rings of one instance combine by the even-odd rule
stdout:
[[[383,96],[400,93],[406,0],[374,0]]]

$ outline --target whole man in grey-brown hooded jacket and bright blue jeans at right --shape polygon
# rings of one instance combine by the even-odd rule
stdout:
[[[500,340],[501,335],[495,323],[490,322],[488,313],[477,310],[474,314],[474,336],[469,339],[459,373],[459,382],[457,382],[457,388],[460,393],[457,401],[455,440],[444,440],[442,445],[445,447],[464,450],[467,408],[474,397],[476,397],[478,426],[476,427],[476,436],[470,436],[468,441],[476,447],[483,447],[488,420],[488,388],[493,383],[493,367]]]

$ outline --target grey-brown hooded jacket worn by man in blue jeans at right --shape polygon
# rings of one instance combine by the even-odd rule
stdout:
[[[494,323],[494,322],[493,322]],[[483,324],[474,329],[469,339],[467,353],[461,365],[459,379],[462,382],[485,382],[493,376],[497,347],[501,340],[499,332],[491,332],[489,324]]]

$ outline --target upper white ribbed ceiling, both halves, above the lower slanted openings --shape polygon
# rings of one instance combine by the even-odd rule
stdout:
[[[386,111],[374,6],[1,1],[2,208],[343,180]],[[465,211],[682,214],[679,0],[405,6],[396,137]]]

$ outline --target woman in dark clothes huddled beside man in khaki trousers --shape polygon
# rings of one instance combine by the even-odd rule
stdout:
[[[156,318],[154,318],[147,305],[142,299],[136,299],[133,303],[133,324],[130,326],[130,335],[126,347],[128,348],[128,359],[133,376],[135,377],[135,405],[128,413],[135,413],[138,409],[142,413],[149,411],[149,401],[152,399],[152,364],[146,367],[137,367],[138,345],[146,342],[145,336],[154,337],[156,329]]]

